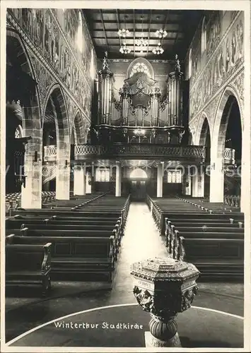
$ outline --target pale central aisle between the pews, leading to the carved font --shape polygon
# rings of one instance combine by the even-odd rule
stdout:
[[[130,275],[132,263],[155,258],[167,258],[168,251],[160,237],[146,203],[129,206],[127,225],[122,238],[117,270],[109,298],[109,304],[133,303],[133,277]]]

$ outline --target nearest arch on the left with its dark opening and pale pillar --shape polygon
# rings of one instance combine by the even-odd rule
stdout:
[[[26,147],[15,140],[21,126]],[[18,138],[21,138],[20,136]],[[16,160],[16,153],[21,160]],[[40,99],[28,52],[19,35],[11,28],[6,30],[6,162],[9,164],[6,191],[22,191],[23,208],[41,207],[42,175],[42,129]],[[21,165],[23,164],[23,165]],[[24,169],[25,165],[25,169]],[[16,167],[18,166],[18,170]],[[25,175],[25,184],[15,174]],[[24,179],[23,179],[24,180]],[[22,185],[22,186],[21,186]]]

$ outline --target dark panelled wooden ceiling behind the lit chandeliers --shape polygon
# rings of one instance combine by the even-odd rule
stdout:
[[[187,48],[203,16],[203,11],[96,8],[83,9],[83,14],[98,58],[102,58],[107,51],[109,59],[133,59],[138,56],[147,59],[173,59],[175,54],[178,54],[180,59],[185,59]],[[126,39],[127,47],[131,49],[129,54],[119,52],[124,42],[124,38],[119,38],[117,34],[121,28],[129,30]],[[167,36],[162,40],[156,37],[156,30],[160,29],[167,32]],[[136,40],[141,38],[142,32],[143,37],[148,40],[143,53],[136,45]],[[158,42],[164,49],[160,55],[152,52]]]

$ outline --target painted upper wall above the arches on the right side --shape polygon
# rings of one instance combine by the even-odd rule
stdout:
[[[243,126],[244,86],[244,13],[243,11],[207,11],[206,50],[202,53],[202,22],[197,28],[185,60],[188,78],[189,50],[192,49],[192,76],[189,79],[189,128],[194,144],[204,116],[209,120],[211,136],[218,126],[218,104],[226,90],[238,100]]]

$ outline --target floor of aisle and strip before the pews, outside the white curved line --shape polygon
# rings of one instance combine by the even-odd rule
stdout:
[[[52,283],[52,296],[6,298],[6,342],[53,319],[86,309],[135,303],[130,265],[150,257],[168,257],[164,240],[145,203],[132,203],[112,288],[104,283]],[[194,306],[243,316],[243,285],[202,283]]]

